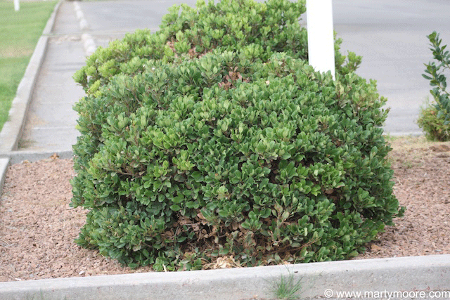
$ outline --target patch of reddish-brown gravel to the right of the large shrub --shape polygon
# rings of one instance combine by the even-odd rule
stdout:
[[[406,207],[358,259],[450,254],[450,143],[392,141],[394,194]]]

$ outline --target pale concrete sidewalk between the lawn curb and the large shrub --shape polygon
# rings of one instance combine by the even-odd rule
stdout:
[[[62,1],[36,81],[18,150],[72,150],[79,135],[72,106],[84,91],[72,79],[86,62],[82,30],[72,2]]]

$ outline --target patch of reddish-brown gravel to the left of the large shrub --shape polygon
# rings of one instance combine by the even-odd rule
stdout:
[[[72,166],[72,159],[44,159],[8,168],[0,200],[0,281],[133,272],[75,244],[86,213],[69,207]]]

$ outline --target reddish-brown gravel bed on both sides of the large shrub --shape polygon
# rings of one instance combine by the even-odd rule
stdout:
[[[391,140],[394,193],[406,212],[356,259],[450,254],[450,143]],[[122,267],[75,244],[86,211],[69,206],[72,166],[72,159],[53,155],[8,167],[0,198],[0,281],[150,271]]]

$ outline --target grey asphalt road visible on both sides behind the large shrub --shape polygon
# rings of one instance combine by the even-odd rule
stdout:
[[[98,46],[107,46],[126,32],[158,30],[162,16],[174,4],[195,6],[195,0],[82,1],[80,6]],[[306,19],[306,15],[304,17]],[[357,71],[378,81],[390,114],[385,131],[392,135],[420,133],[416,124],[430,86],[421,74],[432,59],[426,35],[440,32],[450,44],[449,0],[333,0],[335,32],[342,51],[363,57]]]

